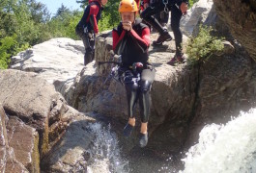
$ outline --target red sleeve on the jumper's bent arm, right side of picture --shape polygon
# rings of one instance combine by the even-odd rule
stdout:
[[[150,46],[150,29],[148,27],[142,30],[141,37],[134,30],[130,31],[130,36],[134,38],[133,40],[142,49],[142,52],[147,51]]]

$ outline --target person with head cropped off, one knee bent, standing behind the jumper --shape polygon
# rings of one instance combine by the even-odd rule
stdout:
[[[145,10],[140,13],[140,16],[149,23],[159,33],[159,37],[153,41],[154,45],[160,45],[164,41],[172,40],[171,35],[167,29],[164,29],[154,17],[158,12],[169,12],[171,11],[171,27],[175,37],[176,54],[167,64],[174,65],[175,62],[185,62],[183,57],[183,34],[180,30],[180,21],[182,15],[187,11],[188,0],[162,0],[157,3],[150,4],[144,3]]]

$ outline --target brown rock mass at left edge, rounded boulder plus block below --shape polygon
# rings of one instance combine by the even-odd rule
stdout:
[[[0,103],[8,114],[0,108],[0,166],[7,172],[40,172],[41,161],[53,145],[58,146],[71,120],[78,115],[84,121],[89,119],[68,106],[53,85],[33,72],[0,70]],[[53,166],[43,165],[44,169]],[[61,168],[56,171],[65,172]]]

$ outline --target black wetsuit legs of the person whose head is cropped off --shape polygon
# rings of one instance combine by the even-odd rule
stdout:
[[[140,16],[150,25],[152,25],[159,34],[164,32],[162,26],[156,20],[154,15],[158,12],[162,12],[165,9],[165,5],[163,1],[167,2],[166,8],[168,11],[171,11],[171,27],[175,37],[176,43],[176,54],[177,56],[181,56],[182,54],[182,41],[183,35],[180,30],[180,21],[182,18],[183,13],[179,9],[183,2],[188,3],[188,0],[161,0],[159,2],[150,4],[150,6],[145,9],[143,12],[140,13]],[[167,10],[165,9],[165,10]]]

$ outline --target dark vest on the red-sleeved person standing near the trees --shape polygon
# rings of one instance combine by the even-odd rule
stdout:
[[[94,30],[94,26],[91,25],[90,19],[88,20],[89,13],[90,13],[90,8],[91,8],[91,6],[93,6],[93,5],[97,5],[98,8],[99,8],[99,12],[97,13],[97,16],[96,16],[97,23],[99,22],[100,17],[101,17],[101,12],[102,12],[103,8],[101,7],[99,1],[90,0],[90,1],[89,1],[89,5],[88,5],[88,6],[85,8],[85,10],[84,10],[84,13],[83,13],[83,16],[82,16],[81,20],[80,20],[79,23],[77,24],[79,27],[82,27],[82,28],[87,27],[88,31]],[[87,21],[87,20],[88,20],[88,21]]]

